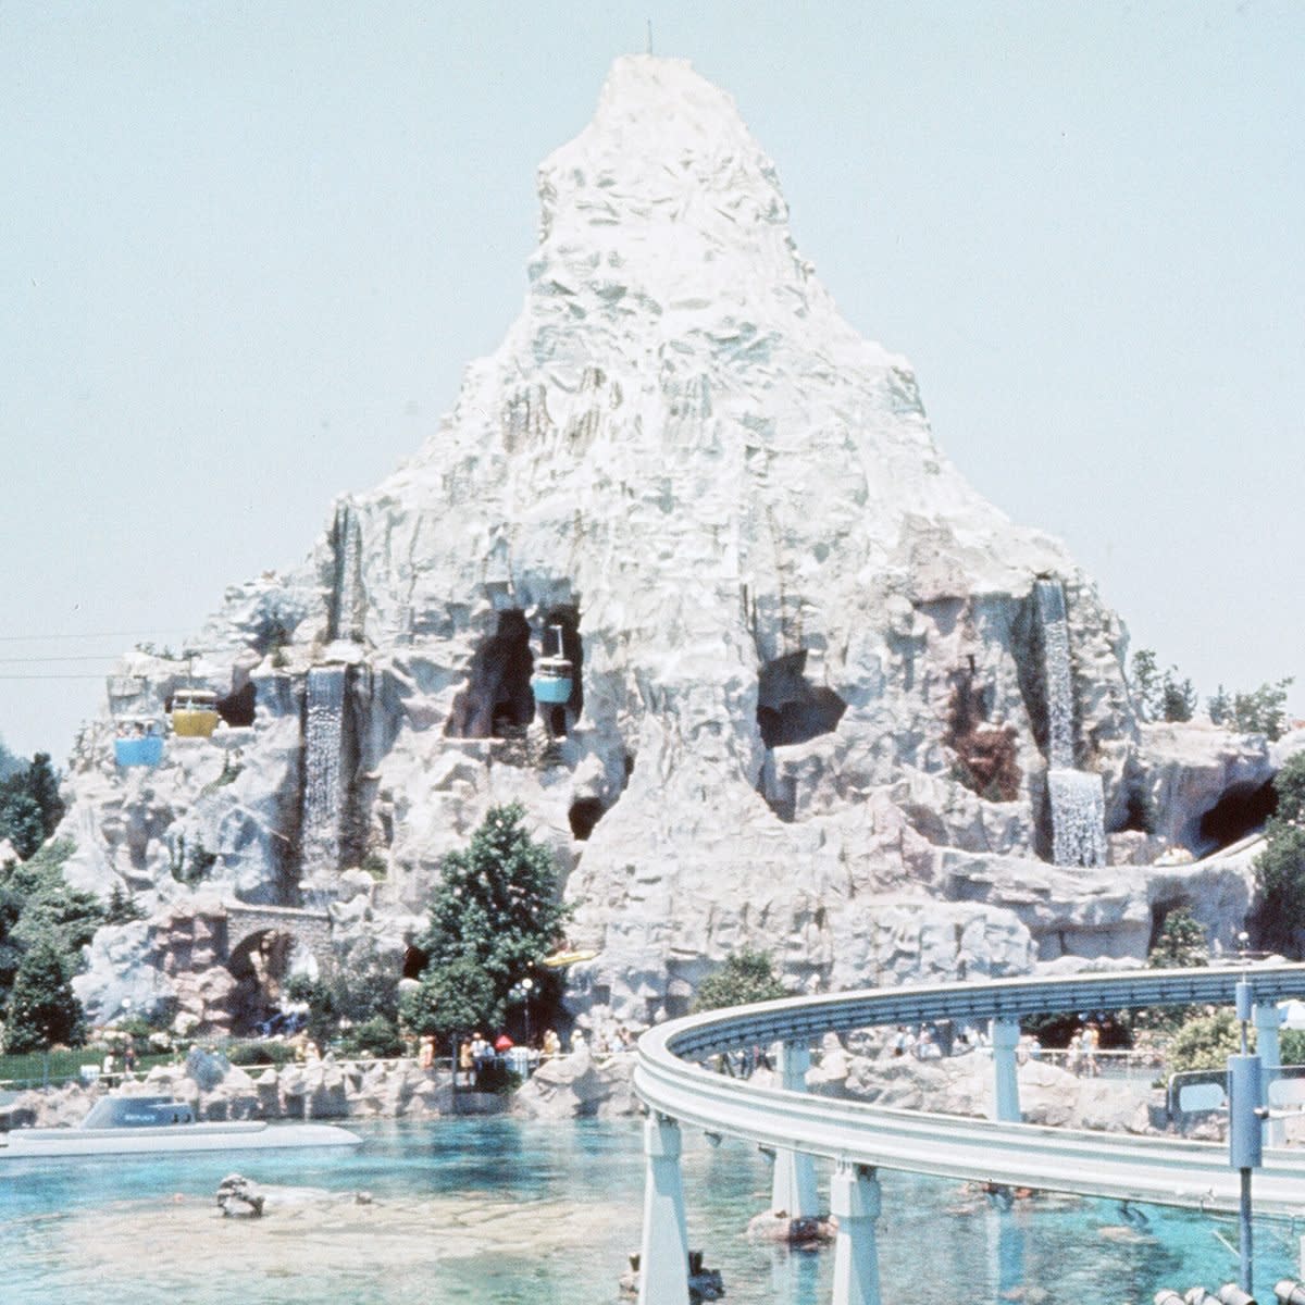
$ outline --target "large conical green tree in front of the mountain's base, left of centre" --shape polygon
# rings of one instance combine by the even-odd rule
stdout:
[[[552,853],[522,827],[525,814],[515,803],[491,808],[470,847],[444,860],[418,940],[429,957],[422,993],[407,1004],[418,1031],[499,1027],[526,976],[542,1011],[557,1004],[557,977],[539,962],[561,940],[570,910],[559,900]]]

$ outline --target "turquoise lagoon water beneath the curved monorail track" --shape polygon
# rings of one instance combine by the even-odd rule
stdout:
[[[632,1121],[389,1124],[358,1151],[67,1160],[0,1168],[0,1302],[104,1305],[613,1305],[639,1237]],[[754,1148],[685,1130],[689,1240],[727,1301],[817,1305],[833,1255],[750,1244],[769,1167]],[[213,1203],[232,1171],[296,1190],[258,1221]],[[1228,1282],[1225,1220],[1040,1198],[1011,1211],[953,1182],[883,1173],[889,1302],[1150,1302]],[[371,1203],[358,1203],[365,1190]],[[1257,1229],[1261,1298],[1293,1271],[1298,1229]]]

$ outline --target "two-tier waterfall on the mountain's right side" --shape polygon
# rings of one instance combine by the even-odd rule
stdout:
[[[1104,865],[1105,792],[1101,776],[1074,769],[1074,684],[1070,677],[1065,589],[1060,581],[1040,579],[1034,585],[1034,599],[1043,630],[1052,860],[1057,865]]]

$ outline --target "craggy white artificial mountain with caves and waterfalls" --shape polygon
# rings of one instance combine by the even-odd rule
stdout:
[[[1246,857],[1151,863],[1235,843],[1280,757],[1139,722],[1120,620],[938,449],[729,97],[617,60],[539,202],[522,312],[416,455],[111,679],[67,876],[149,919],[97,936],[91,1018],[230,1028],[296,951],[411,972],[441,857],[506,801],[592,1027],[683,1013],[744,946],[817,990],[1137,962],[1177,906],[1231,942]]]

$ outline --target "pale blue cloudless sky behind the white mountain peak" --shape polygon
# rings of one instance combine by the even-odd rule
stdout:
[[[107,668],[16,659],[181,645],[418,446],[646,17],[1134,646],[1203,694],[1305,680],[1305,5],[0,0],[13,749],[63,760],[103,684],[3,676]]]

